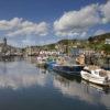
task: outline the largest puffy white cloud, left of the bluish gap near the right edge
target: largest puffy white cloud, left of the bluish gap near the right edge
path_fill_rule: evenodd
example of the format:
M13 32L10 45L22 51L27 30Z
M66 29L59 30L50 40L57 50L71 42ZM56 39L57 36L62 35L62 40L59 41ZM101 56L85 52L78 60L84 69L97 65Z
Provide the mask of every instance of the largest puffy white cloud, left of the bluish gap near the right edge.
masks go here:
M91 4L79 11L65 12L62 18L54 22L55 34L74 36L76 33L80 35L87 32L89 28L101 23L98 10L98 4Z

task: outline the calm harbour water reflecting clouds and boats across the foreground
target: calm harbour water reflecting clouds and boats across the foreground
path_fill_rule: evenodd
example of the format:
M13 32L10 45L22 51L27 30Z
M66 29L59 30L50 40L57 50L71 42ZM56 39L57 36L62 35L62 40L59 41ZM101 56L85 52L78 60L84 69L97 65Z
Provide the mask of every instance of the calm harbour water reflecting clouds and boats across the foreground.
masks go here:
M108 88L35 67L0 62L0 110L110 110Z

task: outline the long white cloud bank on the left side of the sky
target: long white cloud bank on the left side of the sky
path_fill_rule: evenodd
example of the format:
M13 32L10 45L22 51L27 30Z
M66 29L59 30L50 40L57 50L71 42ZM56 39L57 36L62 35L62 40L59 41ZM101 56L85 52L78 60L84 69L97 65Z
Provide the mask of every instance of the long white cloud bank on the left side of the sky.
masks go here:
M34 23L19 18L10 21L0 21L0 31L6 31L7 36L18 35L47 35L48 24L46 22Z

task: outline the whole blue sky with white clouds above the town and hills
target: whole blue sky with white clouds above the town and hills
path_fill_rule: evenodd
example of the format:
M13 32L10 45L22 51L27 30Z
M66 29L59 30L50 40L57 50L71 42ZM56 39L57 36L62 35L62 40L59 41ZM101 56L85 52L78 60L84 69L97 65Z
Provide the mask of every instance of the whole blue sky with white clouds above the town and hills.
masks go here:
M110 0L0 0L0 41L13 46L110 32Z

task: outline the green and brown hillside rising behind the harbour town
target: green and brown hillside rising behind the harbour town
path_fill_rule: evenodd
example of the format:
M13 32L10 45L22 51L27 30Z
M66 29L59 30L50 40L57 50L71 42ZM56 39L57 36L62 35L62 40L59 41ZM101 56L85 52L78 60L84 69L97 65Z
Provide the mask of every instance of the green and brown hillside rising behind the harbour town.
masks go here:
M90 36L88 40L61 40L53 44L42 45L42 46L33 46L41 50L55 50L56 45L61 45L61 47L64 47L64 45L68 46L78 46L81 48L92 48L96 46L100 47L105 44L106 38L110 38L110 33ZM89 42L88 42L89 41Z

